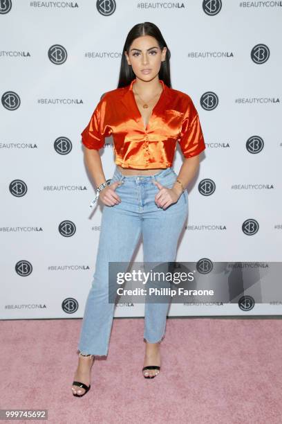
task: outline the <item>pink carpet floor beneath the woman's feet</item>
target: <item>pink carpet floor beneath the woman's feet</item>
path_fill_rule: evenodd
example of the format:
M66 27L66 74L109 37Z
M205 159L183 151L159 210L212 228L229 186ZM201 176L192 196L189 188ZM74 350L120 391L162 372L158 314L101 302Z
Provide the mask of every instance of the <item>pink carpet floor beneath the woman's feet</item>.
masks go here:
M282 423L281 319L168 319L152 380L141 373L143 319L114 319L108 358L75 398L81 322L0 321L1 409L48 409L55 424Z

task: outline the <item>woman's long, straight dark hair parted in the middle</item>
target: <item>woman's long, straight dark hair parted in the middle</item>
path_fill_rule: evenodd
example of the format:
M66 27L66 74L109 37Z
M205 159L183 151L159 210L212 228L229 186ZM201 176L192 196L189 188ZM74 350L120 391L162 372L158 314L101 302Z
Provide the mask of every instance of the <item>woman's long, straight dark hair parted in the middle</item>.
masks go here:
M118 88L126 87L129 85L132 80L135 79L135 73L133 73L132 67L127 63L124 51L129 52L129 48L133 43L135 38L142 37L142 35L151 35L151 37L156 38L160 49L162 50L167 47L167 43L164 41L164 37L162 37L162 33L160 32L158 26L152 24L151 22L142 22L142 24L136 24L129 31L125 43L124 48L122 50L122 62L120 64L120 77L118 80ZM169 67L169 59L171 53L169 48L167 47L167 53L165 55L164 62L160 65L160 71L158 73L159 79L163 80L164 84L171 88L171 78L170 78L170 67Z

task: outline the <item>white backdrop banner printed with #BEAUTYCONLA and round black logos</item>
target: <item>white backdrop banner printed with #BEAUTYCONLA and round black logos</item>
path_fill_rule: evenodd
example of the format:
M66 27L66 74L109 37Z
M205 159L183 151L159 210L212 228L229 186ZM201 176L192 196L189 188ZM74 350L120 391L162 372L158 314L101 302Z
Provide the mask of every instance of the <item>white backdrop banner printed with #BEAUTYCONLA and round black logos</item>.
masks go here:
M281 1L0 0L1 319L83 316L103 206L89 208L80 134L143 21L160 28L172 88L191 96L207 146L176 260L281 262L281 15ZM100 153L110 179L111 138ZM178 145L176 172L182 160ZM169 316L282 313L282 297L256 293L191 297ZM114 316L142 317L144 303L118 303Z

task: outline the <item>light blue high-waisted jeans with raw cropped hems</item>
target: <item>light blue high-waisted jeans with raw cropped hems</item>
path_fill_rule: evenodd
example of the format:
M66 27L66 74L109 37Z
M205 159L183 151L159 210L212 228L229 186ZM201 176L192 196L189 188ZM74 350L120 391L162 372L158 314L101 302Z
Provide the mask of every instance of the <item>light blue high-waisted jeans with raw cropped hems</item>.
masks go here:
M142 235L143 261L173 262L178 238L188 214L185 190L167 209L158 207L155 196L162 186L172 188L177 174L166 168L155 175L122 175L115 167L111 183L121 180L115 189L122 200L104 205L100 238L91 290L86 300L78 349L84 355L107 355L115 303L109 303L109 262L130 263ZM160 342L164 337L169 303L147 303L144 310L144 339Z

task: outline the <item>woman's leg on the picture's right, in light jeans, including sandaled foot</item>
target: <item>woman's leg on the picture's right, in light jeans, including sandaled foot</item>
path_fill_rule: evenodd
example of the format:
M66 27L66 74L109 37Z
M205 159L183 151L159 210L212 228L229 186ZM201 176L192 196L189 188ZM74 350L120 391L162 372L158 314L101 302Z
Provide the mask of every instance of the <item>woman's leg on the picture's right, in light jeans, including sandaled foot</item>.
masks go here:
M144 268L147 271L149 270L150 262L154 267L158 263L174 262L176 260L178 240L187 220L187 192L182 193L178 202L171 204L167 209L156 209L156 211L145 213L142 222ZM166 266L156 266L156 272L165 272L166 268ZM167 270L169 269L167 268ZM156 282L149 281L147 285L154 288L158 287ZM170 287L170 284L165 285L161 282L160 287ZM145 303L144 339L147 342L147 350L144 366L160 365L159 344L164 337L167 312L171 300L170 297L167 297L166 301L162 296L153 297L153 301L154 299L158 303L152 303L152 299L151 302L146 301ZM144 371L145 376L154 376L156 373L158 371Z

